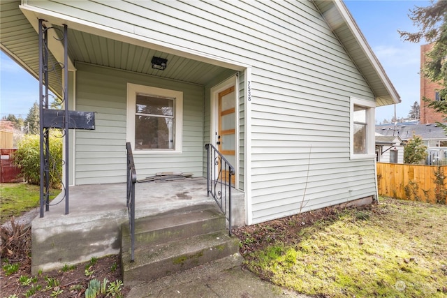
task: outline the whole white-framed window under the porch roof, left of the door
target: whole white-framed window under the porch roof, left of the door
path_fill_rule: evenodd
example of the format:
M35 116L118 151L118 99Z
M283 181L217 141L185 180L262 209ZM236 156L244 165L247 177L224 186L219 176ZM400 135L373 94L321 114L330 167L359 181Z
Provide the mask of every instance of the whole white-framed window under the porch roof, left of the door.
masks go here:
M127 84L127 141L135 154L182 151L180 91Z

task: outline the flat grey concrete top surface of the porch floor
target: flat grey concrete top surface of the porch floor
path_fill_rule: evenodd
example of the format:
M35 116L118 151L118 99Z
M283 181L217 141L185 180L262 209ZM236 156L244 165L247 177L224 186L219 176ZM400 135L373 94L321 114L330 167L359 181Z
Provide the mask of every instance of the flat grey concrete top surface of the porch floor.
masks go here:
M68 191L68 214L65 214L65 200L59 195L50 203L50 211L45 211L42 221L57 218L69 221L70 218L91 218L101 214L127 217L125 183L71 186ZM205 178L135 184L135 218L203 203L214 203L207 197Z

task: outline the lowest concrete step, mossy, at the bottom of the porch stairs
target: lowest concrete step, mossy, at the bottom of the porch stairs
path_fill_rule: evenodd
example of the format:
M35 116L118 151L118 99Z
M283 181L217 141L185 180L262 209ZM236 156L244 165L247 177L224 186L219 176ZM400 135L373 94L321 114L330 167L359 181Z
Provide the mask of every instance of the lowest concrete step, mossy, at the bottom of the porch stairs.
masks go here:
M154 246L135 248L135 261L130 252L122 252L124 283L139 285L168 276L207 262L233 255L239 250L237 237L229 237L227 230L199 234Z

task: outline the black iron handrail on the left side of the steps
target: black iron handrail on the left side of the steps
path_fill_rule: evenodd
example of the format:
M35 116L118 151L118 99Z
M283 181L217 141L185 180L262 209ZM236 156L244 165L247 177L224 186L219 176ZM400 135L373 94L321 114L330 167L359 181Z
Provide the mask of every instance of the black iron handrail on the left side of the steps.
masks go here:
M126 142L127 155L127 211L129 213L129 230L131 232L131 262L135 260L135 183L137 172L133 163L132 147L130 142Z

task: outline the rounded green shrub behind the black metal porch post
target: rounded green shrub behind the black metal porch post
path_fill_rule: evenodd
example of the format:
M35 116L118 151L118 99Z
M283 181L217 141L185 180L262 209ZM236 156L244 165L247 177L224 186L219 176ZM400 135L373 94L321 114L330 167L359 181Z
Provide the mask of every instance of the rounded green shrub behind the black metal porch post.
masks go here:
M50 131L50 187L60 188L62 178L62 133ZM20 140L14 162L29 184L40 184L41 155L39 135L26 135Z

